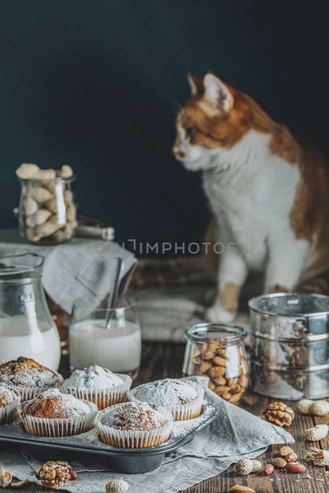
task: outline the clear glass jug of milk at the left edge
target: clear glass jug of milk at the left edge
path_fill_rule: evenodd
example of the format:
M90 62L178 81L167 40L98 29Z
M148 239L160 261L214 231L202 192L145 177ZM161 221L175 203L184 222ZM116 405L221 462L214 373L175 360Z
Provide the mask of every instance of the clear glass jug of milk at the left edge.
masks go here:
M0 363L25 356L56 371L60 338L41 284L43 261L35 253L0 257Z

